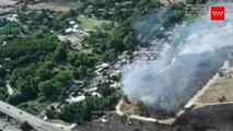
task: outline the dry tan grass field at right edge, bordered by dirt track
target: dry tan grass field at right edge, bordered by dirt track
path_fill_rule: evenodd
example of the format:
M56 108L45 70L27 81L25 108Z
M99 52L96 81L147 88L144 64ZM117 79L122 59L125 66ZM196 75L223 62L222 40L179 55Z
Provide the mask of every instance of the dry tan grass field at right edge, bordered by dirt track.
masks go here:
M223 98L224 97L224 98ZM200 103L218 103L221 99L233 102L233 78L222 76L200 96Z

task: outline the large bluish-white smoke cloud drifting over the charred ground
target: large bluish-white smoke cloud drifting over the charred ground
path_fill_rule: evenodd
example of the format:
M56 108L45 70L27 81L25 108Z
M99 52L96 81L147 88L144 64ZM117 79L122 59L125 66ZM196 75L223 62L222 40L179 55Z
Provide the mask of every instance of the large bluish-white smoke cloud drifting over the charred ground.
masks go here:
M223 48L233 46L233 5L221 5L226 8L224 22L210 21L208 9L191 24L177 26L172 40L158 41L163 45L158 59L124 67L123 91L130 100L177 111L218 72L228 58Z

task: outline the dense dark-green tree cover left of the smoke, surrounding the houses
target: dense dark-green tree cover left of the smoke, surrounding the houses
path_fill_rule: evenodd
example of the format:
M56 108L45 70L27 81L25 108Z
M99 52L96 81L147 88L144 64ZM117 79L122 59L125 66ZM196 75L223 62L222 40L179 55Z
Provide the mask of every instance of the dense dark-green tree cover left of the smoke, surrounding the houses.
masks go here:
M180 3L171 5L161 19L151 16L163 10L163 4L156 0L82 2L82 8L72 9L66 14L49 10L32 11L20 13L20 24L0 24L0 99L33 114L49 102L65 103L71 80L89 75L96 64L114 61L123 51L148 45L154 35L161 36L161 25L171 27L185 16L184 4ZM80 22L83 28L94 29L82 41L90 52L72 50L69 41L61 43L57 38L56 34L69 27L71 20ZM3 41L7 44L3 45ZM16 91L12 96L8 96L4 88L7 81ZM66 104L61 114L53 110L47 111L47 115L53 117L56 112L55 118L82 123L103 115L103 110L114 109L113 105L119 98L116 90L101 86L98 92L103 97L89 96L83 102ZM93 114L96 110L103 112Z

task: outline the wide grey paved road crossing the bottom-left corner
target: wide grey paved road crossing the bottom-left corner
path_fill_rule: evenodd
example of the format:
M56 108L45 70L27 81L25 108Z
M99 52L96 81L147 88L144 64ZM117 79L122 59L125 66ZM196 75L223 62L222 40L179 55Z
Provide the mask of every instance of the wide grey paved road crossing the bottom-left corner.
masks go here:
M2 100L0 100L0 111L15 119L27 121L30 124L36 127L36 129L39 129L40 131L65 131L63 129L56 127L54 123L44 121Z

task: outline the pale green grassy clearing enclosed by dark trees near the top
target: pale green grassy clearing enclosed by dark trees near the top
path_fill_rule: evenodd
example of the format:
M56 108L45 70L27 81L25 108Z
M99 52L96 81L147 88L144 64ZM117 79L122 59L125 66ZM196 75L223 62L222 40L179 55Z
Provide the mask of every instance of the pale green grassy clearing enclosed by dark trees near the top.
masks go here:
M85 16L79 16L78 21L81 22L81 27L86 28L86 29L95 29L96 27L101 27L104 23L109 23L108 21L104 20L95 20L91 17L85 17Z

